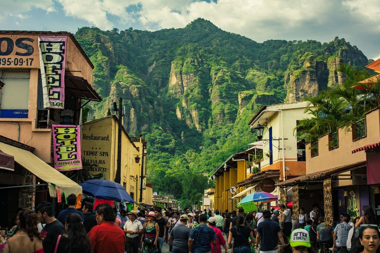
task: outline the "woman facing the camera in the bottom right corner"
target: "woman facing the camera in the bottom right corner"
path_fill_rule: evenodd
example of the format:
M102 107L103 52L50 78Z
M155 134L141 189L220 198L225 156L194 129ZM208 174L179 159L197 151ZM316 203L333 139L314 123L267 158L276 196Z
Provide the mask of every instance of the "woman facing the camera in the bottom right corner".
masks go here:
M361 225L358 239L355 240L350 252L380 253L380 232L376 225Z

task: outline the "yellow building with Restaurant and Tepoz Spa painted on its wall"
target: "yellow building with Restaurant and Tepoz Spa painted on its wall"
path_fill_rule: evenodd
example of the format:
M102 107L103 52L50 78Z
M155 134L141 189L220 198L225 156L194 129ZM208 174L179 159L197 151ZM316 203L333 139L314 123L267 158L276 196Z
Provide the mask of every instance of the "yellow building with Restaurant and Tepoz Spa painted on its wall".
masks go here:
M118 119L115 115L82 125L82 159L93 179L114 181L117 169ZM146 143L122 128L121 184L136 202L146 202ZM144 197L145 196L145 197Z

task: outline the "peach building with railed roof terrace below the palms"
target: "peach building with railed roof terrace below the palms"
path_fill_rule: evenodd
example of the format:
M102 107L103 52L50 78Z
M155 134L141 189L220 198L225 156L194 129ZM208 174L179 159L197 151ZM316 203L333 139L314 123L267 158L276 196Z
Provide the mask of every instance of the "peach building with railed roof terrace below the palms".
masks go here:
M341 213L360 217L369 205L380 218L380 109L368 112L351 129L321 136L306 144L306 175L277 184L293 187L293 208L317 202L328 223ZM285 189L285 188L283 188ZM294 191L296 189L296 191ZM295 198L294 198L295 197Z

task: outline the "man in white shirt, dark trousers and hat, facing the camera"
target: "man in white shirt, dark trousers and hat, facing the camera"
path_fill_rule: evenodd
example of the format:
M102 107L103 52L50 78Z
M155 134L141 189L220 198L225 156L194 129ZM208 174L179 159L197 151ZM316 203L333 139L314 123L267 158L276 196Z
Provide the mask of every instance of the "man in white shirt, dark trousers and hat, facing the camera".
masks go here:
M137 212L132 210L129 214L129 220L124 224L124 233L127 237L125 250L127 253L138 253L139 250L139 234L142 234L142 224L137 218Z

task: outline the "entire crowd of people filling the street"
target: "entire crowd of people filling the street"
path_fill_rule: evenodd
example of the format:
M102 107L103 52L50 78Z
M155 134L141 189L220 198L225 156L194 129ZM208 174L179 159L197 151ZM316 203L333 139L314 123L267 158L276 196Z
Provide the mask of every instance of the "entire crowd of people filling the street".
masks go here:
M351 221L341 214L334 229L325 223L317 204L306 214L301 207L293 228L291 209L280 205L245 213L228 210L190 211L189 208L120 210L109 204L84 201L76 209L76 196L54 217L45 201L17 213L3 248L5 253L160 253L164 244L171 253L316 253L380 252L380 233L374 211L363 207L363 216Z

